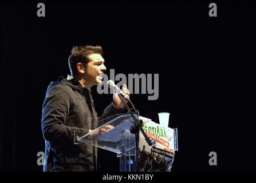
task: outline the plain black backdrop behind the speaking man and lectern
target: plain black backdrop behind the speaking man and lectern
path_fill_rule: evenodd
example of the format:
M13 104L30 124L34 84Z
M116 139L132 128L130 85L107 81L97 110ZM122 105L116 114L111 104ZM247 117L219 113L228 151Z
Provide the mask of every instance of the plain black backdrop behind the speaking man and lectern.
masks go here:
M76 45L101 45L108 75L159 74L157 100L131 100L155 122L171 113L174 172L256 170L256 3L216 3L210 17L210 2L41 2L45 17L39 1L1 2L1 171L42 171L42 102L49 83L69 74ZM96 86L92 94L103 112L112 95ZM99 161L119 170L115 153L100 150Z

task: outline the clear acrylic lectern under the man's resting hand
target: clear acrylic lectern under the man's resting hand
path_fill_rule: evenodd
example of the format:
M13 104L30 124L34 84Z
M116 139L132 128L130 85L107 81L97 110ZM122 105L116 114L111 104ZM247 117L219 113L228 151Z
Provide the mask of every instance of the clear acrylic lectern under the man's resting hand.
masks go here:
M92 137L93 132L107 125L113 126L113 129L101 136ZM76 136L76 141L117 153L117 157L120 157L120 172L136 172L136 136L130 132L132 125L134 121L131 114L117 114L93 124L93 130Z

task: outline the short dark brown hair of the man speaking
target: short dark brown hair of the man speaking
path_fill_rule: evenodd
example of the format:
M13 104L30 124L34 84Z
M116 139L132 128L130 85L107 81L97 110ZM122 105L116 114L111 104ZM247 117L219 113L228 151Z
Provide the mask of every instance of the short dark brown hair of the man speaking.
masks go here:
M81 62L84 66L90 62L88 55L90 54L103 54L103 49L101 46L74 46L72 47L71 54L69 55L69 69L71 75L77 77L77 63Z

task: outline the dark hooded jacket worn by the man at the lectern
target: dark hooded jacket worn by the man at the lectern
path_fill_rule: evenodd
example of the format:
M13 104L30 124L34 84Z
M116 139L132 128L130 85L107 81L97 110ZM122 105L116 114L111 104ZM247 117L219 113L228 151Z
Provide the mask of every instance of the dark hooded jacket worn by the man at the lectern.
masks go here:
M113 104L107 106L101 119L122 113ZM97 148L74 144L74 133L86 134L97 122L90 91L76 78L51 82L42 106L42 134L45 139L44 171L94 171Z

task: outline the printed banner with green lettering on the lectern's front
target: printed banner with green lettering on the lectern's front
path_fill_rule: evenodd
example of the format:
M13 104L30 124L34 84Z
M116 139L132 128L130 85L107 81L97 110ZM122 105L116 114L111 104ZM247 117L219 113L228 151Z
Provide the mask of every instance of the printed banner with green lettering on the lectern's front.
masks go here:
M138 172L170 172L175 153L174 129L156 124L148 118L143 120L142 129L152 142L149 146L143 134L139 135Z

